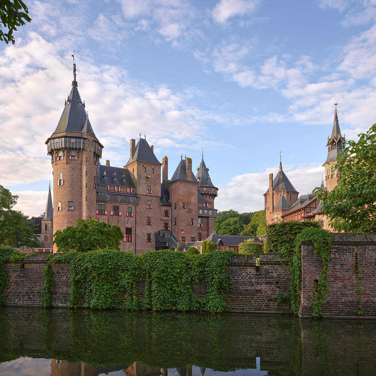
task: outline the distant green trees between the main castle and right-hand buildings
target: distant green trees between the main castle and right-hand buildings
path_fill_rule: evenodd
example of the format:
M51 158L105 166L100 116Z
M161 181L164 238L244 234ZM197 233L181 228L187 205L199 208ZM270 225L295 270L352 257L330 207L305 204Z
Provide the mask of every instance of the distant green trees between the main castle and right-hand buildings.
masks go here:
M218 235L261 236L265 234L265 210L239 213L235 210L218 212L214 220Z

